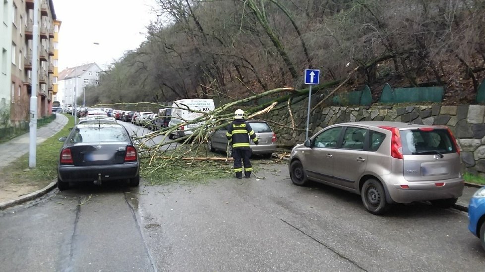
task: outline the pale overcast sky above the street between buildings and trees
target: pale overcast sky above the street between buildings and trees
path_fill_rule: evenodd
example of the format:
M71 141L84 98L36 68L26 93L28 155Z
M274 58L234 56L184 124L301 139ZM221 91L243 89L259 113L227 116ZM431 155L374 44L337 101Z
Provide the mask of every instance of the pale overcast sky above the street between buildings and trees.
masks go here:
M54 0L59 32L59 71L96 62L102 69L144 40L156 19L156 0ZM93 43L99 43L94 45Z

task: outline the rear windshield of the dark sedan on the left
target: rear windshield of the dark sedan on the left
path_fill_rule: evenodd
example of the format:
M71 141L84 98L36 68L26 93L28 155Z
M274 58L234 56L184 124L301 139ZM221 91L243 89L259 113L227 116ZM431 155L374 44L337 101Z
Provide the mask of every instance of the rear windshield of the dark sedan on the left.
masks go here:
M123 128L86 127L76 128L70 137L70 142L118 142L129 141L129 136Z

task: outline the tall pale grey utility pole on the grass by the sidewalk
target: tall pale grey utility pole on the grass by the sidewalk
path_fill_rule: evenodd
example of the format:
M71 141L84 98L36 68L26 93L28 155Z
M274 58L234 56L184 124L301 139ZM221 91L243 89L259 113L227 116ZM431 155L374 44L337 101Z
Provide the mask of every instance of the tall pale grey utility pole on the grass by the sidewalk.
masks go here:
M34 26L32 31L32 90L30 91L29 168L35 168L37 151L37 70L39 68L39 0L34 0Z

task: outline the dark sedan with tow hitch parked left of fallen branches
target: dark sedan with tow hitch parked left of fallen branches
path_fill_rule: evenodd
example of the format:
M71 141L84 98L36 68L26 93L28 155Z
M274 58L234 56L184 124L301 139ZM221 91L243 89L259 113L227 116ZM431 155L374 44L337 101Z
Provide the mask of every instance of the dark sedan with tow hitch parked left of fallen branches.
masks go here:
M58 163L60 190L69 182L128 180L129 185L140 182L138 152L120 124L80 124L67 137Z

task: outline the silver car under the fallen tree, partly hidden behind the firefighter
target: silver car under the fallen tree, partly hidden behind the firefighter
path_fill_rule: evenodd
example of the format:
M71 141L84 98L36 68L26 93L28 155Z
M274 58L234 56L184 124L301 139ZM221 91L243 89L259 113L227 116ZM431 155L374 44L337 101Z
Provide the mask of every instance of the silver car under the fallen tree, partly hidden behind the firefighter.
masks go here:
M264 157L270 158L276 150L276 134L265 121L247 121L252 130L258 138L258 145L250 142L250 148L253 154L260 154ZM226 128L215 131L209 137L207 142L210 151L221 150L226 151L228 156L232 156L233 148L228 147L228 140L226 136Z

